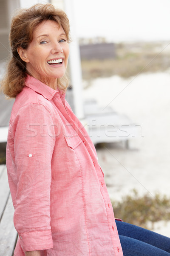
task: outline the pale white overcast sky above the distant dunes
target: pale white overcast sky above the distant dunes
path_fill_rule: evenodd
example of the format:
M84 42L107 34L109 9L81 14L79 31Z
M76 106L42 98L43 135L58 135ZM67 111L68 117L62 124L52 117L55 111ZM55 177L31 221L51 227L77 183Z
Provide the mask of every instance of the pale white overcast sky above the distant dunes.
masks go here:
M170 0L71 0L79 37L170 40Z

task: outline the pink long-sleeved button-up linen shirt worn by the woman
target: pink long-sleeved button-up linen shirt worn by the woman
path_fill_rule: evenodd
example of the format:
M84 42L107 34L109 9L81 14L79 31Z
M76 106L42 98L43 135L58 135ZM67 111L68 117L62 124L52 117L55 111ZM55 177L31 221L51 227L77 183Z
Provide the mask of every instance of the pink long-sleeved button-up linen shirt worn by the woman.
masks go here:
M12 108L6 166L19 234L14 256L123 256L87 131L61 91L31 76Z

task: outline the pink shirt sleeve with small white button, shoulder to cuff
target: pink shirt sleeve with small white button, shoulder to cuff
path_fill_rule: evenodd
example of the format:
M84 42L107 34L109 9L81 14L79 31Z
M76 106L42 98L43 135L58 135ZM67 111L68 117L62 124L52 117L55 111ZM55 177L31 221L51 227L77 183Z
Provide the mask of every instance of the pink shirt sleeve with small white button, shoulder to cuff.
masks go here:
M14 226L24 251L53 247L50 187L54 135L51 113L38 103L20 109L11 125L17 172Z

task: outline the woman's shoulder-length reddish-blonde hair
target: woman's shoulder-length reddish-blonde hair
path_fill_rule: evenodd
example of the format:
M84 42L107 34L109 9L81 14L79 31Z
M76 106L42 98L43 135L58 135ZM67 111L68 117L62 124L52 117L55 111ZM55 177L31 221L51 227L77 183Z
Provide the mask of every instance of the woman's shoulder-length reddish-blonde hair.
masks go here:
M11 21L9 41L12 57L8 63L6 75L1 83L1 90L9 98L15 98L23 90L25 79L28 74L26 62L20 58L17 52L18 47L27 49L32 41L33 31L43 20L54 20L65 31L68 42L70 41L69 20L65 12L55 9L51 4L35 4L29 9L21 9ZM66 90L68 87L67 76L57 79L59 90Z

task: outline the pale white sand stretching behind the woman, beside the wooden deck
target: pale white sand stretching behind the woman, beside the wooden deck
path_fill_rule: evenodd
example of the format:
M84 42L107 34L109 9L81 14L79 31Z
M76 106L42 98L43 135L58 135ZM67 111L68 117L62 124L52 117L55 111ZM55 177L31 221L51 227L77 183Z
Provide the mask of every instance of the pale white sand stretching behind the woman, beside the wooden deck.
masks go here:
M170 73L95 79L83 94L103 108L109 104L140 128L129 136L129 149L120 143L97 149L111 199L119 201L132 189L170 196ZM169 224L159 226L155 230L170 237Z

